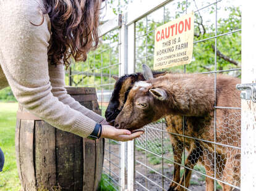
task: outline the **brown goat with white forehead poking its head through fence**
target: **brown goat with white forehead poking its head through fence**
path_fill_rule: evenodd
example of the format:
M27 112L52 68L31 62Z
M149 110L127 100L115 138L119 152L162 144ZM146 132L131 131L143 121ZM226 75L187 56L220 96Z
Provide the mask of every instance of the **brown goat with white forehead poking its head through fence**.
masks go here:
M240 107L239 92L234 89L235 84L240 83L239 79L217 75L216 83L216 105ZM214 169L223 190L233 189L223 182L236 186L240 184L240 150L234 148L241 145L240 113L233 109L216 109L215 113L214 92L212 76L166 74L150 79L147 83L135 83L115 120L117 128L133 130L165 116L175 162L174 179L169 190L184 190L181 185L189 187L189 169L193 169L198 162L206 169L207 191L213 190L211 177L215 174ZM187 168L180 179L180 166L177 164L181 164L184 137L174 134L183 134L182 115L186 116L185 135L198 139L185 138L184 145L189 155L185 162ZM216 148L213 137L216 137Z

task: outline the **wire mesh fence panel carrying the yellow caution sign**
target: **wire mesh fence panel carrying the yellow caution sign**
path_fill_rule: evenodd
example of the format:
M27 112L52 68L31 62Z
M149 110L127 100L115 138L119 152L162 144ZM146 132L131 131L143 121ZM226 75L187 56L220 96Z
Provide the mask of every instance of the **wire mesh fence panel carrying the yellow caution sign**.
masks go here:
M213 75L215 95L218 74L241 78L241 5L238 1L233 1L232 6L229 3L169 1L135 22L135 71L142 71L143 63L153 68L155 28L194 11L192 63L168 68L168 71ZM183 116L166 116L158 123L145 126L145 134L135 141L135 189L168 190L172 184L177 190L205 190L206 182L214 180L213 190L221 190L221 185L240 190L240 109L233 105L215 105L214 124L203 132L204 136L189 129ZM228 112L220 116L220 110ZM189 145L193 144L200 147L190 155ZM192 166L188 158L196 165ZM178 176L185 181L173 179L177 169ZM186 179L189 171L192 171L191 179ZM186 181L190 181L189 188Z

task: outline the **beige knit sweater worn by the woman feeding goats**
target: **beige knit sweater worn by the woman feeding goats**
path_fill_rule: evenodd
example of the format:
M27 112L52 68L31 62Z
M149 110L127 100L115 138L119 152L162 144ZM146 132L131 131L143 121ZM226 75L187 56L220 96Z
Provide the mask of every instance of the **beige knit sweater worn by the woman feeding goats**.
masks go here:
M67 94L64 65L48 63L51 23L42 0L0 0L0 89L11 86L18 102L56 128L82 137L104 120ZM1 108L0 108L1 109Z

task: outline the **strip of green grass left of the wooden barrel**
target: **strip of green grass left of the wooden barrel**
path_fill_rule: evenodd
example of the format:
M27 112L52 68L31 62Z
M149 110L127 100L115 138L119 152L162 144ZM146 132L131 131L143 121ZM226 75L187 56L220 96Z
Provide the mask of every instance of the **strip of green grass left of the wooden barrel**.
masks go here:
M17 103L0 102L0 147L4 152L6 163L0 173L0 190L20 190L20 181L15 159L15 124Z

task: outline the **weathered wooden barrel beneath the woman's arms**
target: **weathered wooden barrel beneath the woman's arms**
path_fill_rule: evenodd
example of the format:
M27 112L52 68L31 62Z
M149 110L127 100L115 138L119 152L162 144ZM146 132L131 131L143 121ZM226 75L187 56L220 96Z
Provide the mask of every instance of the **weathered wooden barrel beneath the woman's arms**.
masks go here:
M95 88L67 87L83 106L100 114ZM83 139L54 128L19 107L15 132L17 168L23 190L97 190L104 139Z

